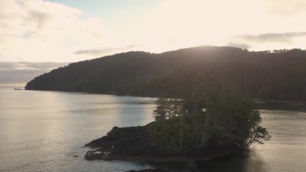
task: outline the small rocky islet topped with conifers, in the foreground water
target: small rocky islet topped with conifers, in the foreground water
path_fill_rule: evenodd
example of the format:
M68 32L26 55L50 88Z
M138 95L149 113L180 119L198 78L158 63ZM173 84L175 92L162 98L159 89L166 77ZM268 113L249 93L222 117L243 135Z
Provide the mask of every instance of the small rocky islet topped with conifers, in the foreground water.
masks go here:
M270 140L260 125L254 100L230 85L225 78L199 80L181 98L161 96L152 113L154 122L113 127L106 136L85 144L92 148L85 159L192 162L197 166Z

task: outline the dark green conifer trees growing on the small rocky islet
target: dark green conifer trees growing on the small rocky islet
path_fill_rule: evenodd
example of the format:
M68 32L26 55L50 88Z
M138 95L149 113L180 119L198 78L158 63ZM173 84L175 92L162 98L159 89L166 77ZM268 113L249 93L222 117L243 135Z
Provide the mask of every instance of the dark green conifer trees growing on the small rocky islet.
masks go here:
M270 140L267 130L260 126L260 112L254 100L242 97L234 89L235 84L224 79L221 85L196 85L193 93L182 99L158 99L152 135L160 146L188 150L205 146L206 140L245 146Z

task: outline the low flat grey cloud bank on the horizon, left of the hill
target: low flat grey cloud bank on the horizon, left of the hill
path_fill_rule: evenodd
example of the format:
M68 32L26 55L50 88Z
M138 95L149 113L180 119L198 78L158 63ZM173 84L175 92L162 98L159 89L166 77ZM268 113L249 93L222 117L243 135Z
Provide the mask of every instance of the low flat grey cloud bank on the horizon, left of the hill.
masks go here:
M0 86L24 86L34 77L68 63L0 62Z

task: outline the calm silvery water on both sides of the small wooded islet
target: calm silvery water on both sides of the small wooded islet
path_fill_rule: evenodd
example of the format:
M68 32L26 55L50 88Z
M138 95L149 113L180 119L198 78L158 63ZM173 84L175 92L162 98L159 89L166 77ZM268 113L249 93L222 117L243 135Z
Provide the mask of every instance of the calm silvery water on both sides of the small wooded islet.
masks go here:
M87 161L83 145L113 126L152 121L154 98L0 88L0 171L126 171L155 167ZM201 171L306 171L306 113L262 110L272 140ZM79 155L78 157L72 157Z

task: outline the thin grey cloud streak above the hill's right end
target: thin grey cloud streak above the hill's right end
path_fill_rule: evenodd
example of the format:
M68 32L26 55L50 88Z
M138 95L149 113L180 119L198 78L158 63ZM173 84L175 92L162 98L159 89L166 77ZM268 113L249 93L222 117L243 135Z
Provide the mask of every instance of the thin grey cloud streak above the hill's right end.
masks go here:
M240 35L238 37L247 42L291 43L294 38L302 36L306 36L306 32L266 33L261 35Z

